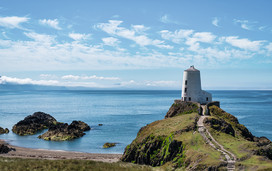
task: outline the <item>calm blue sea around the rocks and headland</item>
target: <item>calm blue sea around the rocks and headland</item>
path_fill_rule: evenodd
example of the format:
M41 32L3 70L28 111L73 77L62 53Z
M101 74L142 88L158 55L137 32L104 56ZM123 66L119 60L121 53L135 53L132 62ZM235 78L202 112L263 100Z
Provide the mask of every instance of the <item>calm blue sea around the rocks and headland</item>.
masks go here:
M208 92L253 135L272 140L272 91ZM0 139L35 149L121 154L141 127L163 119L174 100L180 98L178 90L0 91L0 126L10 130L9 134L0 135ZM48 113L59 122L84 121L91 130L81 138L63 142L38 139L46 130L29 136L18 136L11 131L14 124L37 111ZM106 142L117 145L103 149Z

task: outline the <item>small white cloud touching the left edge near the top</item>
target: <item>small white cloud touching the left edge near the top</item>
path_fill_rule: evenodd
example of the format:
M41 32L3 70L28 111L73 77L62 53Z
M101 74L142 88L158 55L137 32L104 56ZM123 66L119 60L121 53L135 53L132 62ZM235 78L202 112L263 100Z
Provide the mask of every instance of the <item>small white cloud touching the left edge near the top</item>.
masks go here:
M28 20L29 20L29 18L27 18L27 17L17 17L17 16L0 17L0 26L11 28L11 29L14 29L14 28L22 29L20 24L25 23Z

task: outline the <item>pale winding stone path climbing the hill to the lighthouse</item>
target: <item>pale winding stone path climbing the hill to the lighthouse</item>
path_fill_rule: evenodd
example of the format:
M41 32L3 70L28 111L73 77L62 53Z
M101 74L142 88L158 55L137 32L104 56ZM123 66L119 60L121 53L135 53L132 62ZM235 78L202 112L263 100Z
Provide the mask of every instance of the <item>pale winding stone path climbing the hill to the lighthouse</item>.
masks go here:
M203 110L204 113L204 110ZM227 170L228 171L234 171L235 170L235 162L236 162L236 156L229 152L228 150L226 150L221 144L219 144L214 138L213 136L210 134L210 132L208 131L208 129L206 129L206 127L204 126L204 119L206 117L209 116L204 116L202 115L198 122L197 122L197 126L198 126L198 132L201 134L201 136L204 138L204 140L206 141L206 143L208 143L210 146L212 146L215 150L221 152L226 160L227 160Z

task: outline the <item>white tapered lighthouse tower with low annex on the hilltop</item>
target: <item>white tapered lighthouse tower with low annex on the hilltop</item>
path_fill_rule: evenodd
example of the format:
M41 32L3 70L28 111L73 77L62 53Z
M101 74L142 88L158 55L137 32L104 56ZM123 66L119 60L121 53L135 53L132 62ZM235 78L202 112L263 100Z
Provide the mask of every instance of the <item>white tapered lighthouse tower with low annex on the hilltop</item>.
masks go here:
M191 66L183 73L182 101L207 104L212 101L212 95L201 89L200 71Z

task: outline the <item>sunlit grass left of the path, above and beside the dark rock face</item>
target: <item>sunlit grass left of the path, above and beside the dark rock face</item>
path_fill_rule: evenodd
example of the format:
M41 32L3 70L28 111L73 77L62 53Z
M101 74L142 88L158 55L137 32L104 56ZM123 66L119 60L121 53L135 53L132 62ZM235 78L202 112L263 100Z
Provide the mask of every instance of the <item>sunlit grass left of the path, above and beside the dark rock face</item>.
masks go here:
M196 117L199 117L197 113L191 113L155 121L142 129L136 138L136 142L142 142L149 135L171 136L175 140L182 141L183 144L183 157L177 159L177 162L182 166L181 170L185 167L193 167L195 163L203 167L219 166L222 163L220 161L221 153L206 144L197 130L192 129L188 132L176 133L188 127L194 128ZM168 162L164 165L169 166L171 164Z

